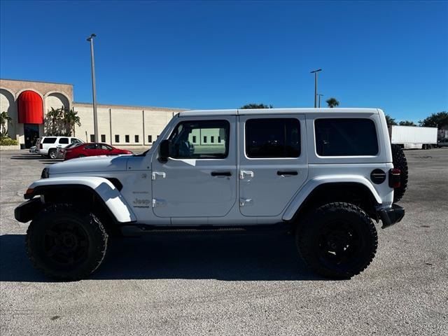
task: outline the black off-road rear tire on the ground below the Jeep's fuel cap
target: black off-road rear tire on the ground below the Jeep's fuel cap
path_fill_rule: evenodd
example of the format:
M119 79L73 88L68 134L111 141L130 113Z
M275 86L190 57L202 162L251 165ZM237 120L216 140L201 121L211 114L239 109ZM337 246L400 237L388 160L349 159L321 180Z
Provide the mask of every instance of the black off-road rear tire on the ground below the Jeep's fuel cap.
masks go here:
M351 244L345 251L347 259L337 261L337 255L327 250L328 228L347 229ZM331 231L330 231L331 232ZM333 234L334 235L334 234ZM324 242L325 241L325 242ZM350 279L370 265L377 252L378 236L374 223L365 212L349 203L328 203L309 212L295 231L297 250L314 272L330 279ZM340 251L340 250L339 250Z

